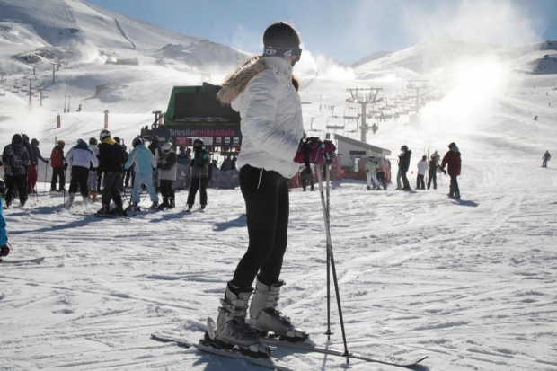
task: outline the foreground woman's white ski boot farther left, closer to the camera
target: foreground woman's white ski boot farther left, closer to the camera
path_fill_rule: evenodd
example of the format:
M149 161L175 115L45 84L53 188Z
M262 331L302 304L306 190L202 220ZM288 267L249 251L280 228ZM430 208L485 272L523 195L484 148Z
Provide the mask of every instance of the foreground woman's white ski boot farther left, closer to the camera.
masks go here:
M237 346L254 357L270 357L270 348L260 343L257 332L245 322L252 293L253 287L235 289L228 282L225 297L220 299L222 306L218 307L217 323L212 318L207 320L208 336L219 346Z

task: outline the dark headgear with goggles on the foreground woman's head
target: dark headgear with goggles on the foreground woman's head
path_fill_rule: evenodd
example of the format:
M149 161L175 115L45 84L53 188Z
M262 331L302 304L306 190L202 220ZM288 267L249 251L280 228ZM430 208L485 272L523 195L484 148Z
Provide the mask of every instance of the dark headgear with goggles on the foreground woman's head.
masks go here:
M264 57L296 57L292 66L300 60L300 35L296 29L285 22L275 22L263 33Z

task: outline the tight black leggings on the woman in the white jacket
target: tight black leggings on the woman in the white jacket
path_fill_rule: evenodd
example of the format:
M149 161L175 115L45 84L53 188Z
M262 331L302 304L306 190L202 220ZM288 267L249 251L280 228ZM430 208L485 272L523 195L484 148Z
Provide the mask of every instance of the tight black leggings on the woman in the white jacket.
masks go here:
M287 250L290 208L287 179L279 172L261 172L259 168L245 165L240 169L240 190L245 200L250 244L232 283L237 287L251 287L259 272L261 283L272 285L279 281Z

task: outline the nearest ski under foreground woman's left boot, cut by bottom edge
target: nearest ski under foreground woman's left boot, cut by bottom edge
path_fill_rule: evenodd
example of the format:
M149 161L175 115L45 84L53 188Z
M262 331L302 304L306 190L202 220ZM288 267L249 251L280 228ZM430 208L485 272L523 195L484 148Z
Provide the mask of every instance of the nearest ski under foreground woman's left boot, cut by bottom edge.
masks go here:
M182 348L194 347L194 348L197 348L201 351L211 353L211 354L215 354L217 356L221 356L221 357L225 357L225 358L243 359L247 362L250 362L252 365L267 367L267 368L270 368L271 370L293 371L292 368L288 368L288 367L280 365L279 360L277 360L276 358L253 358L251 356L243 354L242 351L240 349L237 349L237 348L217 349L217 348L214 348L214 347L210 346L209 344L211 344L211 342L208 341L208 340L205 340L205 339L199 340L199 342L196 343L196 342L192 342L190 340L175 339L173 337L170 337L170 336L167 336L167 335L164 335L164 334L156 334L156 333L151 334L151 339L157 340L157 341L162 341L162 342L172 342L172 343L174 343L177 346L182 347Z

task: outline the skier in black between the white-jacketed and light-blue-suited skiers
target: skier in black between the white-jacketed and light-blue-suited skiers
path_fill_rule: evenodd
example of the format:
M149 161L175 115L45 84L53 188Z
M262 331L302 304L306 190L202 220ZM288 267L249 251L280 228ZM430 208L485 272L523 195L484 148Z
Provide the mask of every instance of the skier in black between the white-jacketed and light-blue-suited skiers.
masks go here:
M97 214L111 213L111 200L114 200L116 208L113 213L117 215L126 215L122 205L122 198L119 194L119 184L122 177L124 166L124 155L122 148L111 137L111 132L107 129L101 131L101 144L99 145L99 167L98 173L104 172L102 189L102 208Z

